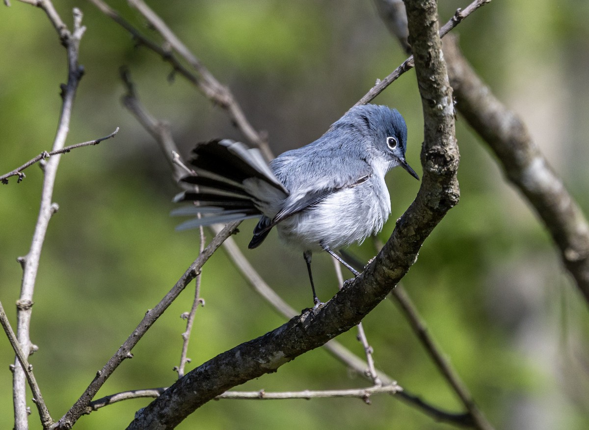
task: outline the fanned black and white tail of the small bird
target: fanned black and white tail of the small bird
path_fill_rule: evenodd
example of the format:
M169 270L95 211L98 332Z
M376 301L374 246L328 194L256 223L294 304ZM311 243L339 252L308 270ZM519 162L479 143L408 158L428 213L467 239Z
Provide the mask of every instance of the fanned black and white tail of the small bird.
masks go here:
M276 202L289 194L260 150L241 142L223 139L199 143L192 155L189 163L196 174L181 180L198 189L181 192L174 202L191 201L194 205L175 209L172 215L201 216L180 224L177 229L272 216Z

